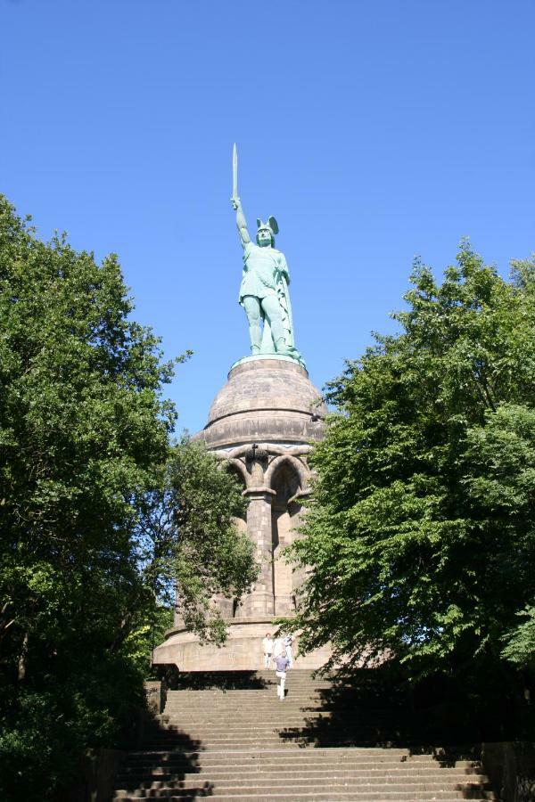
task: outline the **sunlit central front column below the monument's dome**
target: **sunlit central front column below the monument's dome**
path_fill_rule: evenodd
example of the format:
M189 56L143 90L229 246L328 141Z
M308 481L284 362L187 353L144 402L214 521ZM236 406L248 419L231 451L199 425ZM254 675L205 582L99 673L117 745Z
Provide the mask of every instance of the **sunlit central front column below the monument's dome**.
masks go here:
M272 616L275 612L273 589L273 544L271 537L271 500L275 494L269 487L249 487L243 491L249 500L247 532L257 548L260 573L252 592L243 600L243 613L248 617Z

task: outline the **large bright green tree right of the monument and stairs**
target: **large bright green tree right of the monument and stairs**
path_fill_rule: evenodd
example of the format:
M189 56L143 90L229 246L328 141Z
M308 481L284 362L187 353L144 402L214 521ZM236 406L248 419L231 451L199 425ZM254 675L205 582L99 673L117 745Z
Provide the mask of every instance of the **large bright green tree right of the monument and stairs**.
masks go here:
M506 282L464 243L411 280L399 334L328 386L297 626L413 678L507 674L535 645L535 262Z

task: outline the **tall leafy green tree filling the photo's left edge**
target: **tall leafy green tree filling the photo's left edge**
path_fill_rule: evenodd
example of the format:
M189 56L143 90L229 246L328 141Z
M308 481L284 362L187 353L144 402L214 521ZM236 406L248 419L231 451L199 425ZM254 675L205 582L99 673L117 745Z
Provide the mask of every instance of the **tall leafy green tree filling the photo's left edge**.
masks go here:
M170 445L176 413L162 388L172 364L132 308L117 258L97 265L64 237L40 241L0 196L6 800L53 796L75 776L83 750L117 743L143 704L142 653L169 613L158 593L158 570L168 567L141 542L140 520L169 478L175 559L191 557L210 587L227 593L235 569L252 570L239 538L233 552L229 478L209 454ZM204 520L191 500L195 460L207 471Z

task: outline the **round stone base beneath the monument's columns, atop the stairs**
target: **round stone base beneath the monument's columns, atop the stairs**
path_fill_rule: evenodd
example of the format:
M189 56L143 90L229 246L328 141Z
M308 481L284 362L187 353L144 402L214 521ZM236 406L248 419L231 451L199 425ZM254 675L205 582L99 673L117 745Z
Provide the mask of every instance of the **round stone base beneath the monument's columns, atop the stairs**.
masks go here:
M199 638L185 629L171 630L163 643L152 653L152 662L174 663L179 671L259 671L264 667L262 639L274 634L273 618L233 618L229 623L225 646L209 643L202 646ZM331 657L328 647L299 654L299 636L293 642L293 667L314 671ZM273 667L273 666L272 666Z

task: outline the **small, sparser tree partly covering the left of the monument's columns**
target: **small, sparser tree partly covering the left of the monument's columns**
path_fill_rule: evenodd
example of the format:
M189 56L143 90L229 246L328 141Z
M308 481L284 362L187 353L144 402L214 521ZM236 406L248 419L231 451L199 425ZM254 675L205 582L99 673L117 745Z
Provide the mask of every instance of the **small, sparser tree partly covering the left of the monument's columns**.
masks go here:
M159 486L145 494L137 535L145 585L175 601L185 626L221 645L226 624L217 595L240 597L258 566L250 537L235 528L242 488L202 443L182 438L170 451Z

